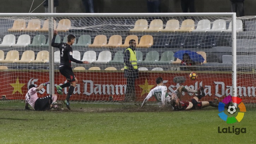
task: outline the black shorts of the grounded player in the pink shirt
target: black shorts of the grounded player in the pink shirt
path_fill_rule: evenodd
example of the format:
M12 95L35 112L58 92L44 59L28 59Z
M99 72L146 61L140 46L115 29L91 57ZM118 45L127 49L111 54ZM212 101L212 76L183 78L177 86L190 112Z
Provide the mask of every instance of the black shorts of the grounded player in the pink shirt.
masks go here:
M36 111L44 111L44 110L49 110L50 105L52 104L52 94L46 97L38 98L35 103L34 109Z

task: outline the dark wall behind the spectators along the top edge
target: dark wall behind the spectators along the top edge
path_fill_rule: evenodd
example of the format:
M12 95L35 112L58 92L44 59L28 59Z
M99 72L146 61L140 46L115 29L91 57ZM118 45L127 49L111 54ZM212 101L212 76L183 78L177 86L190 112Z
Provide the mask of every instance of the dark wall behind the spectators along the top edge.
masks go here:
M43 0L5 0L0 5L0 13L43 13L44 7L40 5ZM84 7L81 0L60 0L57 7L58 13L83 13ZM33 2L33 5L32 5ZM13 4L16 4L13 8ZM32 5L32 7L31 7ZM40 5L38 8L36 8ZM245 15L256 15L255 0L245 1ZM31 7L31 10L30 10ZM145 13L147 12L146 0L94 0L96 13ZM231 12L230 0L195 0L196 12ZM181 12L180 0L161 0L161 12Z

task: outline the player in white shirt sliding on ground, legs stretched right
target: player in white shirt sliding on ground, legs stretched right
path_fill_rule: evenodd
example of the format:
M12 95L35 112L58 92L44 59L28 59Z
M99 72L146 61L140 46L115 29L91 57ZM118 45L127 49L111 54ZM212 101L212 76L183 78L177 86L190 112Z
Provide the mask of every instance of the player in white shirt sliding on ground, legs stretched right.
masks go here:
M144 99L141 107L143 107L148 102L149 98L151 98L152 96L155 97L160 107L164 107L171 102L171 99L180 99L181 93L183 91L197 94L201 94L203 92L202 87L199 87L198 90L192 90L187 86L179 86L178 89L172 93L172 97L170 97L167 93L167 87L163 86L163 79L161 77L156 78L156 84L157 86L149 92L148 96Z

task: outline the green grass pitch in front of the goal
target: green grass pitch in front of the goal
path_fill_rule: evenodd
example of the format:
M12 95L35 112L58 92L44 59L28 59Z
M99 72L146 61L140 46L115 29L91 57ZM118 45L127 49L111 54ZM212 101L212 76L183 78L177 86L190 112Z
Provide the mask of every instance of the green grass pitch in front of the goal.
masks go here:
M34 111L24 110L24 103L0 104L0 143L256 143L255 108L247 108L240 123L226 124L219 118L218 109L212 107L190 111L159 110L156 105L138 107L71 103L72 111ZM228 127L231 133L219 133ZM246 128L246 133L232 132L238 128Z

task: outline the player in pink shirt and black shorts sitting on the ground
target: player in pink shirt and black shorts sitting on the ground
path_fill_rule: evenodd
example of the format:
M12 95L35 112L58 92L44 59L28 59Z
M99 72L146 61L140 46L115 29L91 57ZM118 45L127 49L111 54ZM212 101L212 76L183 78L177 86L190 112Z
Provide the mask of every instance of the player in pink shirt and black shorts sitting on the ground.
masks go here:
M35 85L29 85L29 91L25 96L25 109L29 110L28 105L33 107L36 111L50 110L51 108L58 109L57 95L50 94L49 96L38 98L37 92L40 91L44 86L50 84L46 82L36 87Z

